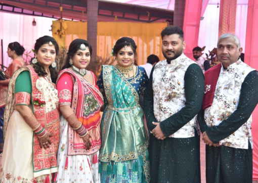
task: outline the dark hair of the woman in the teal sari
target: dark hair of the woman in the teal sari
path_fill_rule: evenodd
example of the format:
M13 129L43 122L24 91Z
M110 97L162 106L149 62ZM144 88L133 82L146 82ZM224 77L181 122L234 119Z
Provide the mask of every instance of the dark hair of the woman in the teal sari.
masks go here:
M131 37L121 37L120 39L118 39L114 45L114 54L117 55L119 50L121 50L125 45L132 48L135 54L135 59L137 59L137 45L135 44L134 39L132 39Z

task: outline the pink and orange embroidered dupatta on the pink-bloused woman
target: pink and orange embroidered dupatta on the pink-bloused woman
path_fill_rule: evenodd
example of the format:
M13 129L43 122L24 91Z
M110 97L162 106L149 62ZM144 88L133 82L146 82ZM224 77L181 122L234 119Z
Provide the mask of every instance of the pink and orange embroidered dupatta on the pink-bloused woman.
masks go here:
M73 80L72 103L71 109L82 123L87 128L92 136L91 149L86 150L82 139L77 132L69 125L68 126L68 155L91 155L96 153L101 146L100 135L100 108L103 105L103 96L99 88L86 81L80 75L72 72L69 69L64 69L60 72L58 79L62 74L68 73ZM96 80L95 80L96 82Z

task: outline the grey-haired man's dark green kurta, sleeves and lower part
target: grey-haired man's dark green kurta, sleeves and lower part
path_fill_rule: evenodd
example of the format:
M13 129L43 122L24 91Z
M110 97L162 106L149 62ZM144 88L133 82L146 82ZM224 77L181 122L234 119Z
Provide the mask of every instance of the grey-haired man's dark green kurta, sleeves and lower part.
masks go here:
M206 131L213 143L227 138L242 126L250 117L258 103L258 74L251 71L241 85L241 94L237 110L218 126L208 127L204 120L204 111L198 114L201 132ZM252 149L237 149L226 146L206 146L206 182L207 183L244 183L252 182Z

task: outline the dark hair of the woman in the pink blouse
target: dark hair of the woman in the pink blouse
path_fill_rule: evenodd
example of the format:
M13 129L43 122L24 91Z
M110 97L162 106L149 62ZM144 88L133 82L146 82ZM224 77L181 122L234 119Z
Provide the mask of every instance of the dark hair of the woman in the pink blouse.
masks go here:
M85 39L74 39L69 45L69 50L67 52L66 62L65 62L65 65L62 67L62 70L71 67L71 65L69 63L70 57L72 58L74 56L74 54L80 49L81 44L84 44L86 47L89 48L90 55L92 56L92 47L87 40L85 40Z

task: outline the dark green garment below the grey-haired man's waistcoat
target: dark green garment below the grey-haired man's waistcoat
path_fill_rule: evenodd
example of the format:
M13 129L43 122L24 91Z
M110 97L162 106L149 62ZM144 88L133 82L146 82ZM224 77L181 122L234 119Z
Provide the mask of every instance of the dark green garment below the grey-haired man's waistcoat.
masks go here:
M251 183L252 149L206 146L207 183Z

